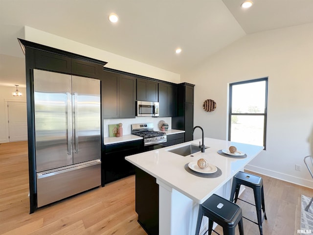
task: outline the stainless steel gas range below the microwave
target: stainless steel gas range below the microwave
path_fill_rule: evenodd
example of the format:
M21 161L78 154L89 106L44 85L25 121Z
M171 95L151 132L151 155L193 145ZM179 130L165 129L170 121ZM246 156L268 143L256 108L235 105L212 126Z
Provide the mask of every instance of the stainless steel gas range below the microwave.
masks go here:
M132 124L132 134L143 138L144 146L159 144L167 141L166 133L154 131L153 123Z

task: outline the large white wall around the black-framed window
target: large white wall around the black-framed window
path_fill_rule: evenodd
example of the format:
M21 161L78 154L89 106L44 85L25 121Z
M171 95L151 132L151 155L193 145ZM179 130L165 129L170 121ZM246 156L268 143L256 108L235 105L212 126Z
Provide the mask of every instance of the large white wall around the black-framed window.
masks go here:
M181 81L196 85L194 124L206 137L226 140L228 84L267 76L267 149L246 168L313 188L303 163L313 125L313 24L246 35ZM202 109L205 99L216 101L214 112Z

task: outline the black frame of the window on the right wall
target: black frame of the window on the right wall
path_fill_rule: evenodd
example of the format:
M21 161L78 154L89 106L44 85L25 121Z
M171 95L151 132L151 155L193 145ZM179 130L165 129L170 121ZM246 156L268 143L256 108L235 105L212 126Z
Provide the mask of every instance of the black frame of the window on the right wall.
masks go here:
M233 86L247 84L247 83L254 83L254 82L261 82L265 81L265 107L264 113L232 113L232 90ZM267 116L268 116L268 77L251 79L247 81L241 82L233 82L229 83L229 107L228 107L228 141L231 141L231 116L263 116L264 117L264 127L263 127L263 146L264 150L266 149L266 128L267 128Z

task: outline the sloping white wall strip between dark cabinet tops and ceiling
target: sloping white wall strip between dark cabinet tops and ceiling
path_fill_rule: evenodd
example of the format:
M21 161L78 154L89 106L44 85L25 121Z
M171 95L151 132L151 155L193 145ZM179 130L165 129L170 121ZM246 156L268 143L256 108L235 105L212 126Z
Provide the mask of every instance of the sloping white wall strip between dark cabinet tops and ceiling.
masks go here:
M174 72L162 70L151 65L125 58L95 47L90 47L85 44L31 28L29 26L24 26L24 31L24 39L27 41L108 62L105 66L107 68L131 72L173 83L179 83L180 81L180 75Z

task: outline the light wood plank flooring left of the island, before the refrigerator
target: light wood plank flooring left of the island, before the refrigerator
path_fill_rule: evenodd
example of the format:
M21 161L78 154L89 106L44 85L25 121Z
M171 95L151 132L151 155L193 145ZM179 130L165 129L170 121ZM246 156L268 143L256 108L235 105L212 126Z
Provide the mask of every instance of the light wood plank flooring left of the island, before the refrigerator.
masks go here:
M134 209L134 176L29 214L27 142L0 144L1 235L146 235Z

